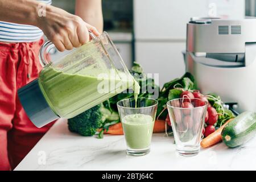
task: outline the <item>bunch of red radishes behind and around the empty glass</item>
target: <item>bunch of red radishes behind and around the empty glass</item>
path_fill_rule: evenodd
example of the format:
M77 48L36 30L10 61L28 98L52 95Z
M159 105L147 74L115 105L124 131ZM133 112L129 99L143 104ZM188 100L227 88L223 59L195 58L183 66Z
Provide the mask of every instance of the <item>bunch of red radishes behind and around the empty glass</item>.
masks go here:
M193 92L189 92L188 90L183 91L180 94L180 98L184 98L182 107L184 108L193 108L200 107L205 105L205 101L207 100L207 97L205 97L203 94L199 92L199 90L195 90ZM200 100L195 100L194 106L191 104L194 98L199 98ZM189 110L186 110L189 112ZM189 113L184 113L189 114ZM212 107L210 104L208 104L207 107L207 113L205 114L205 127L203 128L203 134L204 137L207 137L209 134L213 133L215 131L214 124L218 120L218 113L214 107ZM167 114L166 122L169 126L171 126L171 121L169 114Z

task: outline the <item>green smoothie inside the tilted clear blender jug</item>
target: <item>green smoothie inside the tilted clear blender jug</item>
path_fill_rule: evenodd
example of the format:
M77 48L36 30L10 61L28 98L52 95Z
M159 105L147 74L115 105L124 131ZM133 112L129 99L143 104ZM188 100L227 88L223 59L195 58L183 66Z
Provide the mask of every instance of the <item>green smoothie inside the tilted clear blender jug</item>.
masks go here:
M109 83L109 85L123 85L125 88L114 86L113 90L102 93L98 90L98 85L102 82ZM132 78L124 80L69 74L51 67L40 73L39 83L42 85L42 91L48 104L55 108L55 112L62 118L72 118L97 105L99 99L107 100L115 96L118 89L123 91L129 88L129 85L135 85ZM138 86L134 86L134 88L137 89Z

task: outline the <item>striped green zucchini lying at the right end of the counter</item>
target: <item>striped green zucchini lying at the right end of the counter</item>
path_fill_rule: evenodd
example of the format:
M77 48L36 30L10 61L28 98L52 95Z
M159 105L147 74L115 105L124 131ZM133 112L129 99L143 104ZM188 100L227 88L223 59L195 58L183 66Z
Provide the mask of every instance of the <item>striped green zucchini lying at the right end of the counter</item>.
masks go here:
M224 127L221 132L222 141L228 147L238 147L255 136L256 113L245 111Z

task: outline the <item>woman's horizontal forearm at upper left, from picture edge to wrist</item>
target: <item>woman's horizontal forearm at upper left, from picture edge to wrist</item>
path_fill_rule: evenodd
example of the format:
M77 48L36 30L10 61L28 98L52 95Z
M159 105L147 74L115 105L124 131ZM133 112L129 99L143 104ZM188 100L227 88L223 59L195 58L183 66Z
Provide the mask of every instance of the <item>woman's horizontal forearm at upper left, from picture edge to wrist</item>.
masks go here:
M35 0L0 0L0 20L37 26L38 7Z

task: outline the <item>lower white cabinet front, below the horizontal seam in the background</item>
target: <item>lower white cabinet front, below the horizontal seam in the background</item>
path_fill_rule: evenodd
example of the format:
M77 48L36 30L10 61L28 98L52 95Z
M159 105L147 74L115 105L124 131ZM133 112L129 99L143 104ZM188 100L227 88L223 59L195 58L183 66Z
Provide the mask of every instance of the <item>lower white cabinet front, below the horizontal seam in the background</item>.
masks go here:
M184 42L136 42L135 60L142 65L146 73L159 73L159 85L181 77L185 73L182 50ZM157 80L155 80L157 81Z

